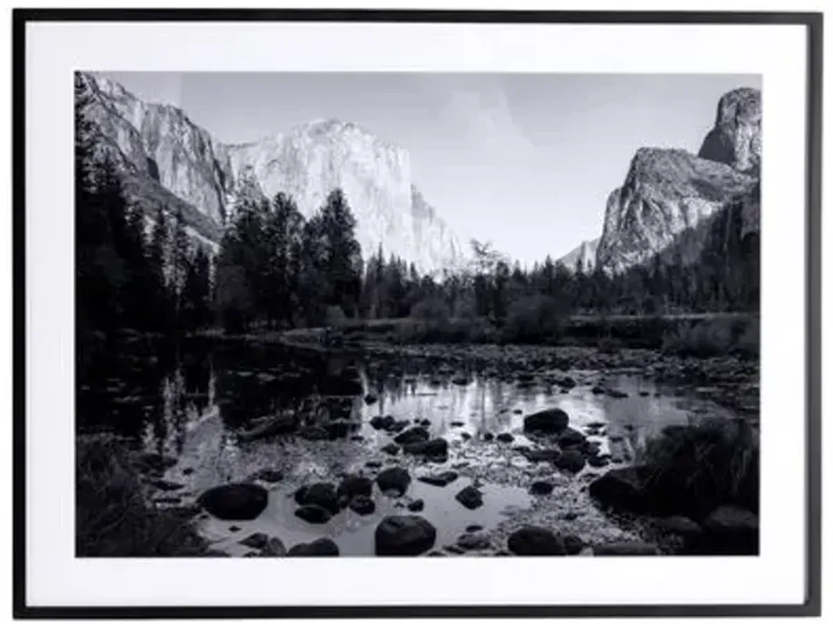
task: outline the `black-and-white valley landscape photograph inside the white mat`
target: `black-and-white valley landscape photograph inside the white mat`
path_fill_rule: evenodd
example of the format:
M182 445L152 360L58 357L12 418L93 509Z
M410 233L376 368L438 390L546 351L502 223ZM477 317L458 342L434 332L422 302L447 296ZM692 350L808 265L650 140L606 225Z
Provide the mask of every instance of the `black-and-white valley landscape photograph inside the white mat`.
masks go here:
M78 557L757 554L760 77L74 87Z

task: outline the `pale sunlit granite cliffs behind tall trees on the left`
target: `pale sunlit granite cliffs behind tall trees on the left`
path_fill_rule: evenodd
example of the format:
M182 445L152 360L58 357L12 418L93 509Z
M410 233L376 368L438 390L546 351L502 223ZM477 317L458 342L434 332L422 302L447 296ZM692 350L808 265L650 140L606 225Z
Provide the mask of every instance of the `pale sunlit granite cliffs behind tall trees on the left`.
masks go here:
M382 246L423 272L456 267L466 248L412 179L407 150L350 122L316 121L258 142L227 144L182 109L144 102L112 79L83 73L78 105L97 147L120 165L145 207L180 207L195 236L217 242L242 195L287 192L310 217L341 187L365 257Z

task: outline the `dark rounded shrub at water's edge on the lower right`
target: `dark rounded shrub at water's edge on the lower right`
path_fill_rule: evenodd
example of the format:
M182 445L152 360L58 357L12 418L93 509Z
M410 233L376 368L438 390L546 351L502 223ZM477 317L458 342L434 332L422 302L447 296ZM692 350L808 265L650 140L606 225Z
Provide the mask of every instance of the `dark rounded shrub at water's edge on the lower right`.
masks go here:
M651 508L700 519L720 505L758 511L760 436L743 418L666 427L642 453Z

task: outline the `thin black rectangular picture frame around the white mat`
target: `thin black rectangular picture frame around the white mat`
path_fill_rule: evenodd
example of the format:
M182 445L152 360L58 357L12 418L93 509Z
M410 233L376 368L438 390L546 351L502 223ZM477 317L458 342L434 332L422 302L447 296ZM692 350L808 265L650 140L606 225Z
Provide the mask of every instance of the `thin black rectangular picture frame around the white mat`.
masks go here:
M720 605L390 607L32 607L26 600L26 27L31 22L445 22L793 24L807 30L806 92L806 593L804 602ZM25 619L262 617L796 617L821 614L821 105L819 12L585 12L248 9L16 9L13 127L13 616Z

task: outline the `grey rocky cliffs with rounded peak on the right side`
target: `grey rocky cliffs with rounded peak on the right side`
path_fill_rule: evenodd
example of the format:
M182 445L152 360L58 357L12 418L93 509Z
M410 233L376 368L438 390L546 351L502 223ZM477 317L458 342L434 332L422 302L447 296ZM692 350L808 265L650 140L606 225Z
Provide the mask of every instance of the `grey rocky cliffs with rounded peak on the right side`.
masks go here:
M657 255L698 262L704 249L714 248L707 240L710 224L725 220L728 208L740 240L758 232L760 167L761 92L736 89L718 102L715 126L698 155L636 151L625 182L608 197L596 262L613 271Z

